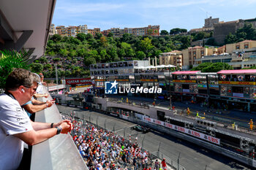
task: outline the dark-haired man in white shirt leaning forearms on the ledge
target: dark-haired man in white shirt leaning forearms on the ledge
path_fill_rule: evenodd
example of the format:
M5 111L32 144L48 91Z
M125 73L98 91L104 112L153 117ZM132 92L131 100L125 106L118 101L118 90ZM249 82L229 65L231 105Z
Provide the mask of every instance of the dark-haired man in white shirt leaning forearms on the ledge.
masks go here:
M20 107L31 99L37 89L32 74L26 69L14 69L7 77L5 93L0 95L0 169L18 169L24 142L34 145L72 130L69 120L32 122Z

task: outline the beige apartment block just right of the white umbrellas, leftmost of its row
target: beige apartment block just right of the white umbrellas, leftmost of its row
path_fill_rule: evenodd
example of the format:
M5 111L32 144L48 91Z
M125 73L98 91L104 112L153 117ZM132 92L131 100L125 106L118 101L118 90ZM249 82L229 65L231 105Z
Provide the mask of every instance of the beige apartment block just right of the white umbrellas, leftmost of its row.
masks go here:
M181 68L183 66L183 57L181 51L173 50L168 53L160 53L159 55L160 65L173 65Z

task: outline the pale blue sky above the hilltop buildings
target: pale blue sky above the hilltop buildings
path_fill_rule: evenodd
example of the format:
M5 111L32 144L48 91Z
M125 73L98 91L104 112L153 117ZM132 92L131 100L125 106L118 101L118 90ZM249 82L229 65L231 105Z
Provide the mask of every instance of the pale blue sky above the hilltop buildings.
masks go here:
M206 16L225 22L256 18L256 0L57 0L56 26L88 28L138 28L160 25L171 28L201 28Z

